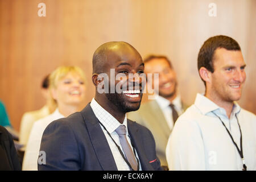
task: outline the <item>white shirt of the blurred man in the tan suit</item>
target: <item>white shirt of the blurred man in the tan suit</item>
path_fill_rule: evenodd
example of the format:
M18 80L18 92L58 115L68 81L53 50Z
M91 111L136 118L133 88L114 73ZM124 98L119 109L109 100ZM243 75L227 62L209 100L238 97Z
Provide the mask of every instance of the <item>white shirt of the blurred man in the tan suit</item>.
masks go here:
M166 119L167 124L170 127L170 130L172 130L172 128L174 127L174 121L172 119L172 109L170 107L171 102L161 96L156 97L155 101L158 102L158 105L160 106L160 109L162 109L162 111L163 111L164 118ZM174 105L174 108L177 111L177 114L181 115L183 113L183 108L182 108L182 104L181 104L180 95L178 95L172 101L172 104Z

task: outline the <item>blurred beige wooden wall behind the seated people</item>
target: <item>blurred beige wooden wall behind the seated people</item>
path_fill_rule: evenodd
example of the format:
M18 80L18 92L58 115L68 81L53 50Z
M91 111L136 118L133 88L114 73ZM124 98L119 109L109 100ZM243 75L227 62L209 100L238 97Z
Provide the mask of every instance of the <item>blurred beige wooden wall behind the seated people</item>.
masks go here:
M38 16L40 2L46 17ZM216 17L208 15L212 2ZM240 43L247 81L239 103L256 113L255 18L255 0L0 0L0 99L19 130L22 114L44 105L43 77L59 65L79 65L88 77L89 102L94 50L122 40L143 57L170 57L181 96L192 104L204 92L197 53L207 38L222 34Z

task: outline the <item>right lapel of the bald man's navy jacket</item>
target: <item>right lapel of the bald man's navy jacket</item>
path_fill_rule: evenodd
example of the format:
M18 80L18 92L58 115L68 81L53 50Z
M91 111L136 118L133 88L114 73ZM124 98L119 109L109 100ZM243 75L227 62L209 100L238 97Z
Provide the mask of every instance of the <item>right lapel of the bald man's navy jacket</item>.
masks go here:
M138 156L139 162L141 163L141 167L143 171L152 171L154 168L149 163L149 160L146 157L145 150L142 148L143 144L141 143L141 139L139 139L139 129L134 126L134 123L127 119L127 127L129 131L129 135L131 137L131 143L135 147Z

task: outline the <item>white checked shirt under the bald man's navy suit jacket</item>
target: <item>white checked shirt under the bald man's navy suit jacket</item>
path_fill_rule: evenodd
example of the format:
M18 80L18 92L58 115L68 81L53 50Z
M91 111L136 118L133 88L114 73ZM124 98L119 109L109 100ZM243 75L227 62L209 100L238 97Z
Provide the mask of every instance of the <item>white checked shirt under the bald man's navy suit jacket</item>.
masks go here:
M92 102L90 102L90 106L92 107L93 113L96 115L98 120L102 123L102 125L105 126L106 130L108 130L111 137L115 140L115 142L118 144L118 146L121 148L121 150L123 152L121 143L119 141L119 136L115 132L115 129L117 129L122 124L119 123L117 121L117 119L115 119L111 114L109 114L108 111L106 111L103 107L101 107L100 104L98 104L98 102L96 100L94 100L94 98L92 99ZM128 142L130 143L130 146L133 150L133 146L131 145L130 137L128 137L129 133L128 133L126 115L125 115L125 119L123 120L123 125L125 125L125 127L126 127L126 138L127 138ZM104 127L101 126L101 129L104 132L105 137L109 143L109 147L110 147L110 150L112 151L118 171L130 171L129 166L126 164L125 160L123 160L122 155L120 154L117 146L115 146L115 143L113 142L113 140L109 137L109 134L106 132ZM137 158L139 159L136 150L135 150L135 153L136 153ZM123 152L123 154L125 154L125 153ZM141 170L141 163L139 163L139 169Z

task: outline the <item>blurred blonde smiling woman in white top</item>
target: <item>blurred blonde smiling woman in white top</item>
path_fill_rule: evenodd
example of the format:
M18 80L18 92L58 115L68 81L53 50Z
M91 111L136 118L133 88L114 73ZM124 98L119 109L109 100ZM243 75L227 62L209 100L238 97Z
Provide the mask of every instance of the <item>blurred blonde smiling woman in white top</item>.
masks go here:
M38 156L44 129L52 121L80 111L85 103L85 75L79 67L59 67L49 77L50 92L57 109L32 127L24 154L22 169L38 170Z

